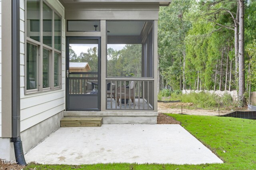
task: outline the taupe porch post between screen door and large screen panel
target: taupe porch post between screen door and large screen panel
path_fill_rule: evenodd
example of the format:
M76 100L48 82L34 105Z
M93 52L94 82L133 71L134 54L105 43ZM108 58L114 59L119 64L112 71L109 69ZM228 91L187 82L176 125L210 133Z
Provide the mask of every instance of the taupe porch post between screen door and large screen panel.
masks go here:
M101 36L101 72L100 72L100 79L101 79L101 96L100 96L100 110L106 111L106 59L107 59L107 38L106 38L106 20L100 21L100 36Z

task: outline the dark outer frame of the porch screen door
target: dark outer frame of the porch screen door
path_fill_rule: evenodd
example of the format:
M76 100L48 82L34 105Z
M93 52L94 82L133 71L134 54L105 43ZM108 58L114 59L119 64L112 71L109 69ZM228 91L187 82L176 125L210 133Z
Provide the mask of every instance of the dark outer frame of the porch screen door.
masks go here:
M70 39L97 39L98 40L98 109L69 109L69 82L67 78L67 70L69 70L69 42ZM66 36L66 66L65 66L65 79L66 79L66 111L100 111L101 110L101 37L88 37L88 36Z

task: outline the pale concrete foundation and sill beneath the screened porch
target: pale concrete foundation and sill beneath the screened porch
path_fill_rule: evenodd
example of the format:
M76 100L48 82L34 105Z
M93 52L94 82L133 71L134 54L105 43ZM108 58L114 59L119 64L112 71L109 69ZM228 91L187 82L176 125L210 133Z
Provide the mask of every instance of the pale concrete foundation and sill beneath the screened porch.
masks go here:
M65 117L102 117L103 124L156 124L157 112L64 111Z

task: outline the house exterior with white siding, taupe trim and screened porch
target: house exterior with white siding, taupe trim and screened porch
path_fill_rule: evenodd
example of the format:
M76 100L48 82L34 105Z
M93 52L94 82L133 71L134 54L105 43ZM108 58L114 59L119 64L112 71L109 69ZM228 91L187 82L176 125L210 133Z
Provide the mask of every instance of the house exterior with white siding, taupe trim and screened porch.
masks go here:
M14 1L19 11L12 10ZM56 131L64 116L156 123L158 12L170 0L0 4L1 159L14 159L14 128L26 153Z

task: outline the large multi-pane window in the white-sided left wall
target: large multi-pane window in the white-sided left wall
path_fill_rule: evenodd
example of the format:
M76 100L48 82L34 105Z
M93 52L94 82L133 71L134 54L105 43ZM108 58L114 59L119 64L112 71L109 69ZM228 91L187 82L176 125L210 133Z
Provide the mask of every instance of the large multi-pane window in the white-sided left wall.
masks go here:
M44 0L26 1L26 93L61 88L61 23Z

